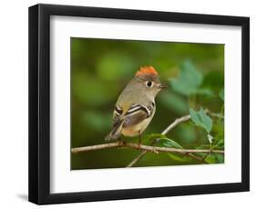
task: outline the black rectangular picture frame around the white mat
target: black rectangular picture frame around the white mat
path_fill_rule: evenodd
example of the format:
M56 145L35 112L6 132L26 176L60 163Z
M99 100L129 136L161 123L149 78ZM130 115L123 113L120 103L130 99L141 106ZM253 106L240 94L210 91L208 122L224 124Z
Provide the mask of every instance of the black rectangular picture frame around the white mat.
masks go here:
M241 183L50 194L50 16L241 26ZM29 201L64 204L89 201L216 194L250 190L250 18L70 5L29 7Z

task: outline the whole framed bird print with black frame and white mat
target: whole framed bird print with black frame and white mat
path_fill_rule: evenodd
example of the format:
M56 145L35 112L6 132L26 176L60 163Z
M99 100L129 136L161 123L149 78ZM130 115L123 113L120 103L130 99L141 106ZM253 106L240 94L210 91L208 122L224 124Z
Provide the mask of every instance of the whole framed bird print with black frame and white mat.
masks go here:
M29 7L29 201L249 191L249 17Z

